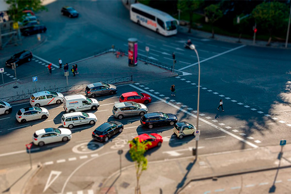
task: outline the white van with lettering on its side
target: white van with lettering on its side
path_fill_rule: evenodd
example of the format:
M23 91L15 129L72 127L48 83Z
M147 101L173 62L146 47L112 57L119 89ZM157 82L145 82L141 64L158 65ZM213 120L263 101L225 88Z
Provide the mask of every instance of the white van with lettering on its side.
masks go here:
M99 107L99 102L97 99L88 98L84 95L72 95L66 96L64 99L64 109L66 113L72 113L76 111L84 110L97 110Z

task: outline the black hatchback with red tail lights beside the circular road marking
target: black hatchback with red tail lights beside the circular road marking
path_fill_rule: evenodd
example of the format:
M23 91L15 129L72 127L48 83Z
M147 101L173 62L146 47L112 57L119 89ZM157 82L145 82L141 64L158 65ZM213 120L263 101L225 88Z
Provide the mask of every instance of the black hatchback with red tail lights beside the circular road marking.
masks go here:
M112 137L118 132L121 133L122 130L123 130L122 123L118 121L109 121L97 127L92 132L92 138L100 142L107 142L110 137Z

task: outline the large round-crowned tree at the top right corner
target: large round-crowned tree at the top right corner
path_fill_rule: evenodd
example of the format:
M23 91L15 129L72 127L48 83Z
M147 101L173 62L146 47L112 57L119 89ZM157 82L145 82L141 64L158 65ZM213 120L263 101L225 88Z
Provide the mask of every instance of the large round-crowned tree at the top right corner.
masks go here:
M262 2L252 11L252 16L255 18L257 25L261 27L261 30L269 32L270 36L267 43L267 46L269 46L273 31L285 25L288 17L288 7L278 1Z

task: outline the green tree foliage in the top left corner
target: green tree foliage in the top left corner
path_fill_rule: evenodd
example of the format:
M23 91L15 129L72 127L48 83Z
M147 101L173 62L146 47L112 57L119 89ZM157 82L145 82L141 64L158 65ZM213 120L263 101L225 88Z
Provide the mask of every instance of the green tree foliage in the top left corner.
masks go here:
M14 21L22 21L23 10L29 9L33 12L46 10L46 8L41 4L41 0L6 0L9 4L8 15Z

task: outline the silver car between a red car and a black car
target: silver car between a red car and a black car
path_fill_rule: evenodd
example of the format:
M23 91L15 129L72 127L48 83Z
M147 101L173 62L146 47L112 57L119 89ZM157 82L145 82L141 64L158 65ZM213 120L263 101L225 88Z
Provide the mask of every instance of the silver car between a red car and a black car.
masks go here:
M143 116L147 113L147 107L144 104L136 102L120 102L113 106L113 116L122 119L124 116Z

